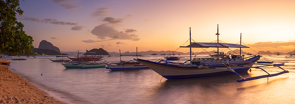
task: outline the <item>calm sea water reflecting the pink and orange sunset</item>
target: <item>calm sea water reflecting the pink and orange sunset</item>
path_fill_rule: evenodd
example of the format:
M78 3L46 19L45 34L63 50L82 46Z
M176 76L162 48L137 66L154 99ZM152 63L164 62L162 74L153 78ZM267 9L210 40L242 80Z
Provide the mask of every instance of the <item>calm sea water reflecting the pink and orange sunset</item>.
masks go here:
M65 69L60 62L48 60L55 59L55 56L36 57L8 60L12 62L9 69L50 96L71 104L295 103L295 57L286 55L264 57L277 63L285 62L282 67L289 73L246 82L236 82L240 77L235 74L161 80L162 76L149 68L119 71L106 68ZM124 56L122 60L133 58L136 57ZM163 55L138 58L159 59ZM101 62L119 62L119 57L106 56L104 59ZM283 71L273 66L264 69L271 74ZM252 68L251 72L240 75L248 78L266 73Z

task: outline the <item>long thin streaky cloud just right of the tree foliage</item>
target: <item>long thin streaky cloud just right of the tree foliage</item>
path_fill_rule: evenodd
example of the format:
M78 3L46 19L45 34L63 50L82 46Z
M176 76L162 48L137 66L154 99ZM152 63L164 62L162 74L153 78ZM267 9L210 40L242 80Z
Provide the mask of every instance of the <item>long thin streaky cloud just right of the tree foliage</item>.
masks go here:
M28 17L27 15L18 16L17 18L24 21L32 21L32 22L40 22L40 23L71 25L71 26L78 25L78 23L63 22L63 21L58 21L58 19L52 19L52 18L38 19L38 18Z

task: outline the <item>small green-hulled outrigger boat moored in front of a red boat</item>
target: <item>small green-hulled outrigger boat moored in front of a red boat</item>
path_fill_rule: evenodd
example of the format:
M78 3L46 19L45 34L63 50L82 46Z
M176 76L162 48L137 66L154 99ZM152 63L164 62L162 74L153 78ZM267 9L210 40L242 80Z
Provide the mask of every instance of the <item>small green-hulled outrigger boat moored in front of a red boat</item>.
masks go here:
M105 63L97 63L95 61L92 62L64 62L61 63L65 68L101 68L101 67L106 67Z

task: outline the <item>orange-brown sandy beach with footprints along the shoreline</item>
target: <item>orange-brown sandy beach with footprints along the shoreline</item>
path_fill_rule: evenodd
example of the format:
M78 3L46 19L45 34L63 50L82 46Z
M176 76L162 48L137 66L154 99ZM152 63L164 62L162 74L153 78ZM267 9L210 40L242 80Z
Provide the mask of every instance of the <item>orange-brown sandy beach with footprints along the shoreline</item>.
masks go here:
M4 60L0 60L4 61ZM12 63L13 64L13 63ZM66 104L0 65L0 104Z

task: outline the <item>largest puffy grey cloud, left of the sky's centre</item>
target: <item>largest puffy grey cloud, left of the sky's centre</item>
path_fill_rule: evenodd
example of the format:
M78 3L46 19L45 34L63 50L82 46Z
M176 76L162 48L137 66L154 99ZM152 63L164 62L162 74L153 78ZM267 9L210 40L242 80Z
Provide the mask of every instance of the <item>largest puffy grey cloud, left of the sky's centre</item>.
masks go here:
M108 24L101 24L99 26L94 27L94 29L91 30L91 33L96 35L99 39L106 39L106 37L109 37L111 39L123 39L123 40L133 40L138 41L140 38L138 38L138 35L135 34L127 34L125 32L120 32L116 30L112 25ZM106 41L106 40L102 40Z

